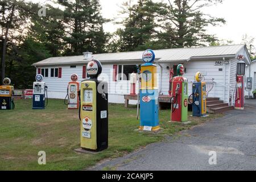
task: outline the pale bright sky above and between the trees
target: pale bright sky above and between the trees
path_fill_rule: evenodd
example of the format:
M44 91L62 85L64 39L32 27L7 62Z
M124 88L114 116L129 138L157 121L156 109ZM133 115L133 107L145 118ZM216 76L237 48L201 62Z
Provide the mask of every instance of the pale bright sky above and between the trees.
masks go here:
M100 0L104 18L117 17L123 1L125 0ZM163 1L167 2L167 0ZM233 40L234 44L241 44L243 35L247 34L255 38L254 46L256 47L255 7L255 0L223 0L223 3L204 8L204 13L226 20L226 24L222 26L207 27L208 33L216 35L219 39ZM108 32L114 32L117 28L118 25L113 23L104 25L104 30Z

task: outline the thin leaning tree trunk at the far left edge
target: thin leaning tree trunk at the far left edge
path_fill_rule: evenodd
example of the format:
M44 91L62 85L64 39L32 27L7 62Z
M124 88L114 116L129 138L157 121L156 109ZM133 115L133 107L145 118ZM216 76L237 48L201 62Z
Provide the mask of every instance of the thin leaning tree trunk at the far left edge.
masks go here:
M15 10L15 2L13 4L13 6L11 7L10 20L6 24L5 39L3 40L3 49L2 49L2 80L3 80L3 78L5 78L6 44L7 44L7 39L8 39L9 28L11 26L11 23L13 22L14 10Z

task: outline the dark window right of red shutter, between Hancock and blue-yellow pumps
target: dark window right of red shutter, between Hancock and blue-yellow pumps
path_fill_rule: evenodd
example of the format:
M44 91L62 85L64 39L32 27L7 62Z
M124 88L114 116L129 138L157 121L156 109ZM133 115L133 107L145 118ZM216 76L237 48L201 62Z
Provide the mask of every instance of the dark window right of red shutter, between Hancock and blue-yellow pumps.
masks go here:
M138 65L119 65L118 80L129 80L131 73L138 73Z

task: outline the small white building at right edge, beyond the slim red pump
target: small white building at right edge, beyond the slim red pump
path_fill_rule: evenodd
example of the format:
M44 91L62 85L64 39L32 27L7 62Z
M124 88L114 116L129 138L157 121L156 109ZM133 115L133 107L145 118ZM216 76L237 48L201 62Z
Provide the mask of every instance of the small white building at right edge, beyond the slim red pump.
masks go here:
M256 90L256 59L251 61L250 65L246 65L246 92L245 96L247 98L253 98L253 92ZM250 78L250 79L249 79ZM248 86L248 81L251 80L251 88Z

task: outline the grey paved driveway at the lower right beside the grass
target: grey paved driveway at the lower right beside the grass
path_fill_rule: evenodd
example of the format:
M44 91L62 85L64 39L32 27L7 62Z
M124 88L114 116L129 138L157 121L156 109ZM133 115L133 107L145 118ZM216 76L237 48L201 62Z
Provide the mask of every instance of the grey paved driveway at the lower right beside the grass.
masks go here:
M181 135L92 169L256 170L256 100L246 100L246 110L229 111L224 118L183 131ZM216 152L216 165L209 164L210 151Z

